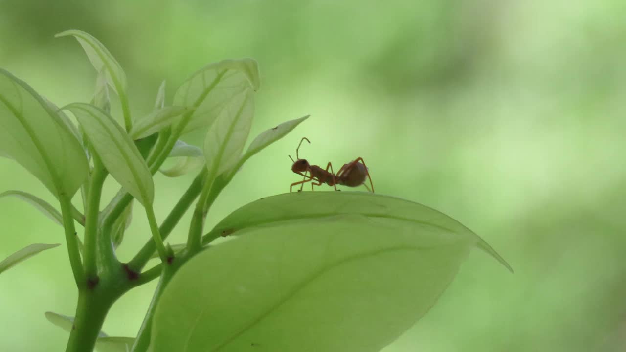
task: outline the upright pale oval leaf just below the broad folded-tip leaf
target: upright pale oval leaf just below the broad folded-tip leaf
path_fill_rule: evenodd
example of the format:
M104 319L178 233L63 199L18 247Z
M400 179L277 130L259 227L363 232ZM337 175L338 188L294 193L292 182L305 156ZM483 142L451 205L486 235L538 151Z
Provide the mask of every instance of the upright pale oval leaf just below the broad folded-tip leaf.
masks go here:
M203 151L208 169L216 176L239 161L253 117L254 96L252 90L244 88L228 101L209 128Z

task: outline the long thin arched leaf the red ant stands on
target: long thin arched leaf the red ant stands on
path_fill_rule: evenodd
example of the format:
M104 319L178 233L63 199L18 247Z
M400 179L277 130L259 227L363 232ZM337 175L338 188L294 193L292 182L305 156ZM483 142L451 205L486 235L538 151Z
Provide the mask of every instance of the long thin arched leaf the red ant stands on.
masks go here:
M360 214L372 218L394 217L463 234L472 238L476 246L490 254L509 271L513 271L505 259L487 242L448 215L409 200L365 192L298 192L260 199L225 217L205 236L203 242L206 244L210 239L220 235L237 234L237 231L247 227L279 225L284 221L297 219L323 219L336 214Z

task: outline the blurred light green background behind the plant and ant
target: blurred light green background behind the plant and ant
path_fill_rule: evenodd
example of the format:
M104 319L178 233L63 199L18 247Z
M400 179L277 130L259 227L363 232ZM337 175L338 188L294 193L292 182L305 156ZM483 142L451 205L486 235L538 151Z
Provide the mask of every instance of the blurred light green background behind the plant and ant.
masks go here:
M312 117L246 163L208 225L286 192L299 180L287 155L305 136L302 157L363 157L377 192L451 215L515 268L475 251L384 352L624 351L625 14L621 0L0 0L0 66L58 105L89 101L95 70L74 39L53 38L82 29L125 68L140 116L163 79L171 101L205 64L255 58L251 135ZM160 219L191 178L156 177ZM3 159L8 189L53 200ZM116 189L110 182L105 199ZM61 227L16 199L1 200L0 214L0 257L63 242ZM138 215L120 257L147 238ZM104 331L134 336L154 284L120 299ZM0 351L64 350L67 334L43 313L73 315L75 300L64 247L3 273Z

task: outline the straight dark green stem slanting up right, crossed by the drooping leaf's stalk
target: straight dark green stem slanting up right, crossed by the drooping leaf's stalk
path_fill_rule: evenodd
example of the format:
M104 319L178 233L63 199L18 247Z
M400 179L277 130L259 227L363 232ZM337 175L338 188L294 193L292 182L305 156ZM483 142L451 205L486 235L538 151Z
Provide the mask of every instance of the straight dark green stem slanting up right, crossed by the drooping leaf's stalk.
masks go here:
M193 179L193 182L189 185L180 200L178 200L177 204L174 205L170 214L167 215L167 218L163 221L163 224L161 224L159 232L163 239L167 238L170 232L172 232L174 227L178 224L178 221L180 221L185 212L187 212L187 209L189 209L190 205L192 205L193 201L198 197L198 194L200 194L207 172L207 168L202 168L202 171ZM140 272L155 252L155 246L154 241L147 241L136 256L128 262L128 267L133 271Z

